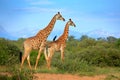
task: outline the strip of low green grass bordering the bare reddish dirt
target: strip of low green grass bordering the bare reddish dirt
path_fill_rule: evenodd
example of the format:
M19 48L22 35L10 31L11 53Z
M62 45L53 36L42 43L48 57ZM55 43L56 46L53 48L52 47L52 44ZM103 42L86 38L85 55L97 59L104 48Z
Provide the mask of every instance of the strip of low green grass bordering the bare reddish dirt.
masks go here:
M0 75L0 80L14 80L22 79L22 80L32 80L32 75L35 73L50 73L50 74L78 74L80 76L95 76L95 75L106 75L105 80L119 80L120 79L120 68L119 67L94 67L89 71L79 71L74 73L68 73L66 71L61 71L57 67L51 66L51 70L48 70L46 65L38 66L37 70L30 70L28 66L24 65L22 71L19 71L19 65L14 66L0 66L0 73L8 72L12 74L12 77L6 75ZM6 78L5 78L6 77ZM3 79L4 78L4 79Z

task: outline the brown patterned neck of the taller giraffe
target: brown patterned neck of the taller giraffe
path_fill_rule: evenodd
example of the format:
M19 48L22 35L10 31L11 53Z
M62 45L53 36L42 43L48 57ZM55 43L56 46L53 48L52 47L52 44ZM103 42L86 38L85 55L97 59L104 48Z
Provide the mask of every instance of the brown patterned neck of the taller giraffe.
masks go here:
M43 30L40 30L36 36L39 36L40 34L45 35L46 37L50 34L50 32L52 31L54 25L56 22L56 18L55 16L52 18L52 20L50 21L50 23L47 25L47 27L45 27Z

